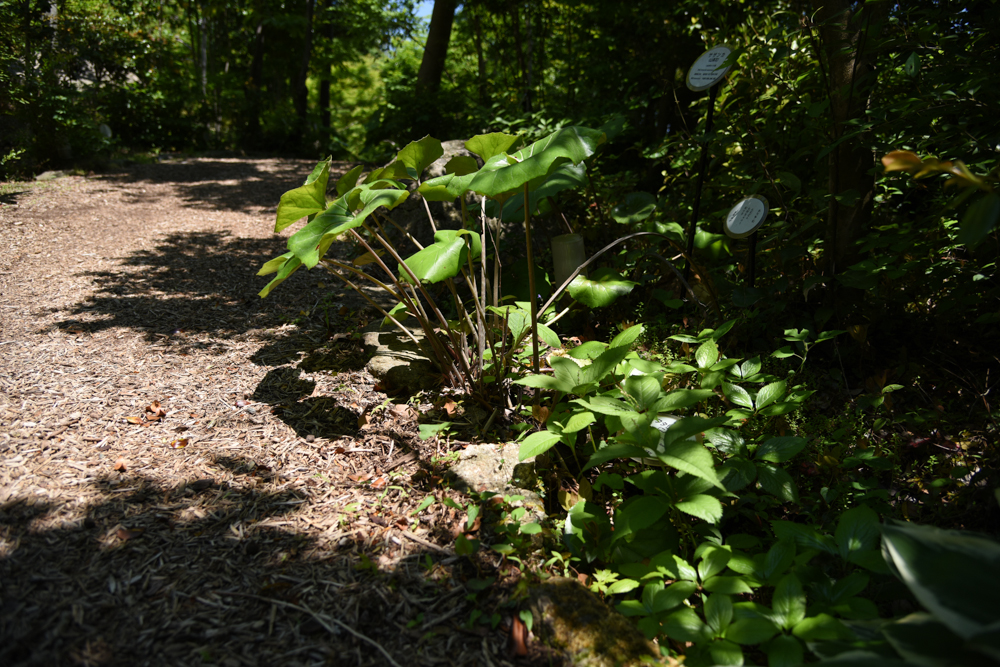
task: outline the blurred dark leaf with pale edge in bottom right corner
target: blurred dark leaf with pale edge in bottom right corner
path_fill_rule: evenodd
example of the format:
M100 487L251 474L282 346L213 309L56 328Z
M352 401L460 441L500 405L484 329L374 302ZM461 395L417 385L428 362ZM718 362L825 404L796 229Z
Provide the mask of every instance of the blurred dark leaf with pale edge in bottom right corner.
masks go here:
M997 622L1000 544L977 535L886 521L882 551L928 611L960 637Z

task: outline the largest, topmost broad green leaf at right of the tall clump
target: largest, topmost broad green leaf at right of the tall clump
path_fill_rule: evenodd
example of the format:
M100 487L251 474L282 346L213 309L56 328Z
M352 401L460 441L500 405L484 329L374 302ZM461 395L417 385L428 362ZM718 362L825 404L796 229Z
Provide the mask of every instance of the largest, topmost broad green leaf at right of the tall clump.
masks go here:
M604 133L600 130L564 127L514 153L507 164L493 162L501 155L493 156L487 164L493 163L498 168L487 169L484 165L469 189L493 198L516 194L525 183L547 176L567 160L574 164L586 160L604 141Z

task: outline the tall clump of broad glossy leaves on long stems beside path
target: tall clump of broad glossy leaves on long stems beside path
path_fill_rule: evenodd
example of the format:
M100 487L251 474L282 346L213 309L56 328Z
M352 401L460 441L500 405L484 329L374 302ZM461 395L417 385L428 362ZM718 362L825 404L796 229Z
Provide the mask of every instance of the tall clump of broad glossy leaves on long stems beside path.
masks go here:
M327 200L330 161L321 162L304 185L281 198L276 231L302 218L308 222L288 239L289 251L260 270L259 275L276 274L261 296L267 296L301 266L322 265L377 308L384 323L391 322L423 348L447 384L493 407L505 395L529 334L536 371L539 339L552 347L559 347L560 342L545 322L539 321L548 315L544 309L539 314L534 299L528 303L504 299L495 253L499 229L487 219L486 199L502 206L520 195L522 201L530 202L533 191L549 184L567 165L586 160L603 141L604 134L599 130L567 127L515 150L520 143L517 136L479 135L466 142L466 147L482 160L482 166L475 158L458 156L448 162L444 176L422 181L427 166L443 154L439 141L425 137L403 148L395 161L372 171L363 181L361 167L352 169L337 181L337 195L332 201ZM458 199L462 227L438 229L427 208L434 243L422 247L390 215L410 195L407 181L417 183L417 191L425 200ZM546 192L552 191L550 185ZM469 213L470 194L481 198L478 216ZM534 293L531 206L522 207L529 282ZM399 229L419 250L402 257L386 231L389 226ZM344 234L364 251L350 262L328 255L334 241ZM393 270L393 265L398 269ZM372 275L366 266L377 267L381 276ZM362 281L384 290L395 305L382 308L360 288ZM439 304L428 289L436 283L446 286L450 308ZM407 317L413 317L417 326L405 325Z

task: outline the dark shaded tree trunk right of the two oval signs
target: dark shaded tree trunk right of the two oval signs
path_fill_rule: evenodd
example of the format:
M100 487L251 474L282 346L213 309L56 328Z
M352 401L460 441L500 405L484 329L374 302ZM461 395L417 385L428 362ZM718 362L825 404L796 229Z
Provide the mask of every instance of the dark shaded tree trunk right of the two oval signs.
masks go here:
M840 142L828 156L830 208L824 252L829 275L858 261L856 243L868 228L875 194L875 156L867 142L857 136L842 138L848 122L864 119L868 108L877 80L875 46L888 3L855 5L849 0L813 0L827 68L832 140Z

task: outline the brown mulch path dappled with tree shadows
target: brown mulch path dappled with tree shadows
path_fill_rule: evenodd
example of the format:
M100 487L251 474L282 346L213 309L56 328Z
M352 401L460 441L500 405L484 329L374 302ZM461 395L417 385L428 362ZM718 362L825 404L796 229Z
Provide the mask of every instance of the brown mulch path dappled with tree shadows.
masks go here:
M435 408L337 335L372 312L317 271L257 297L311 167L0 190L0 664L527 664L464 512L418 509L461 501Z

